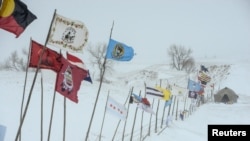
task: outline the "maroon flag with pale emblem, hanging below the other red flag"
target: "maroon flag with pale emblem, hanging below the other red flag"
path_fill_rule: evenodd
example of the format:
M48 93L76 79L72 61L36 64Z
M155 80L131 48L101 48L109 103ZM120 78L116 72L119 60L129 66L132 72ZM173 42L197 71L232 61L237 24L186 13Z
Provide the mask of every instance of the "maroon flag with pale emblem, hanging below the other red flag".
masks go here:
M62 68L57 73L56 91L73 102L78 103L77 92L80 89L82 78L87 76L87 71L71 64L63 56Z

